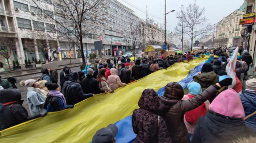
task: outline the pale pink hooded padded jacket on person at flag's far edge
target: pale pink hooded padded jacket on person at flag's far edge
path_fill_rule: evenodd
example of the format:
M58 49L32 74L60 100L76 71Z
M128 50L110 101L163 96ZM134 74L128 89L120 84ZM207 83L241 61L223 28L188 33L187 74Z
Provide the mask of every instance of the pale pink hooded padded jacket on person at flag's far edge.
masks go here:
M108 86L111 90L116 90L121 86L125 86L126 84L121 82L120 77L117 76L117 71L115 68L110 69L111 75L108 77Z

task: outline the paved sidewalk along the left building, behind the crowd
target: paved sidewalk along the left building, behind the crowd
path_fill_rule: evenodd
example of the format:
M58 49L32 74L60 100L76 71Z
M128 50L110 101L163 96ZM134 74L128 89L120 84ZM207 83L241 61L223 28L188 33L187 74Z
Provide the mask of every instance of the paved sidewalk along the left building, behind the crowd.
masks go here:
M108 59L108 58L114 58L114 57L102 56L102 58ZM89 58L85 58L85 61L87 61L87 59L89 59ZM60 69L63 69L64 66L77 67L82 64L82 62L80 62L80 60L82 60L82 59L81 58L77 58L77 59L72 58L71 63L70 63L70 59L66 59L66 60L62 59L62 61L54 60L53 62L46 63L46 64L42 65L42 67L35 67L35 65L33 63L33 68L30 68L30 69L26 69L25 65L20 65L22 70L15 70L15 71L9 71L9 66L4 66L5 72L0 73L0 75L2 76L2 78L8 78L11 76L20 77L20 76L41 73L41 69L43 69L43 68L52 69L52 70L60 70ZM91 64L94 64L94 62L95 62L95 60L90 59ZM11 70L12 70L12 66L11 66Z

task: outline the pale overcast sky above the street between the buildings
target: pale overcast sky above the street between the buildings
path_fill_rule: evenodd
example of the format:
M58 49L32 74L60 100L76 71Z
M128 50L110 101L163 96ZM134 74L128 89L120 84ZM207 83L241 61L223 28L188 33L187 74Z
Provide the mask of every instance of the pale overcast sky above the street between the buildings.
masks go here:
M142 19L146 19L146 9L148 10L148 18L154 18L155 23L163 24L165 13L165 0L117 0L126 7L135 11L135 15ZM180 11L180 6L185 7L194 0L166 0L166 15L167 30L175 33L174 27L178 23L176 13ZM228 16L231 12L240 8L244 0L196 0L199 7L206 9L205 16L208 23L215 24L222 20L223 17ZM147 6L147 8L146 8ZM143 12L142 12L143 11ZM157 17L157 18L156 18ZM159 19L161 18L161 19Z

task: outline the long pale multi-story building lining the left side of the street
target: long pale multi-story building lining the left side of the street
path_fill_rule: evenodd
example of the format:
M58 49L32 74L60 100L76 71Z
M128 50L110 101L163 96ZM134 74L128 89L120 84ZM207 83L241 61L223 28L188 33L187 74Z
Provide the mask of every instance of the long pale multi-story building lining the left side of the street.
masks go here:
M41 0L41 2L54 9L51 0ZM108 11L108 20L89 24L89 26L88 24L85 25L97 29L97 32L93 34L88 32L83 37L84 51L80 51L78 47L69 45L68 40L59 39L56 31L59 27L54 26L53 22L40 19L37 15L44 13L34 5L23 0L0 0L0 38L11 37L15 39L16 46L10 59L18 59L20 64L24 64L25 59L32 61L32 57L41 61L45 61L45 57L53 57L58 60L64 56L76 58L81 56L80 52L88 57L91 52L98 53L94 48L94 42L98 40L103 41L102 53L119 56L122 51L129 48L125 35L131 33L131 21L135 25L146 22L138 18L134 11L116 0L110 0L108 9L105 10ZM54 15L52 11L44 11ZM60 17L54 15L54 19L60 19ZM156 30L158 33L164 33L161 28L156 28ZM66 35L72 36L68 31L66 31ZM148 40L146 38L144 40L146 42L143 42L143 46L146 46L145 43ZM69 49L70 46L73 47L71 50ZM3 45L0 45L1 47ZM0 57L0 61L7 65L7 60L3 57Z

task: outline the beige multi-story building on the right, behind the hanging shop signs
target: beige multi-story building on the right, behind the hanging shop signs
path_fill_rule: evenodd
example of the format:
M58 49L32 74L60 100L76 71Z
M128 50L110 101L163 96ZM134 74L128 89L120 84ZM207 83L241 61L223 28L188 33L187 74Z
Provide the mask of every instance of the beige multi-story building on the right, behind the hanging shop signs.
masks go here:
M237 47L242 45L241 31L243 27L239 25L239 20L246 12L246 5L247 1L239 9L217 23L214 47Z

